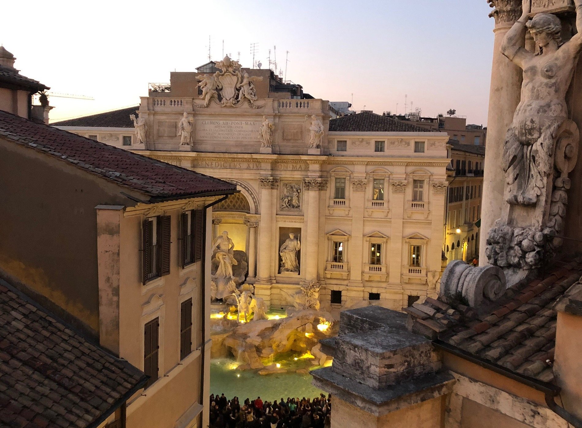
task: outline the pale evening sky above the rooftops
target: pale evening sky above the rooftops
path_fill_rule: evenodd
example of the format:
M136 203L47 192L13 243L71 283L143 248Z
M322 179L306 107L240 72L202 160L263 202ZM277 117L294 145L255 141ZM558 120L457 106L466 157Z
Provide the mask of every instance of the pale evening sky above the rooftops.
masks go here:
M0 43L16 67L54 92L51 121L137 105L148 82L195 71L230 53L265 68L268 49L287 79L353 109L424 116L453 108L487 124L494 22L485 0L5 2ZM34 13L32 13L34 12ZM409 107L410 108L410 107Z

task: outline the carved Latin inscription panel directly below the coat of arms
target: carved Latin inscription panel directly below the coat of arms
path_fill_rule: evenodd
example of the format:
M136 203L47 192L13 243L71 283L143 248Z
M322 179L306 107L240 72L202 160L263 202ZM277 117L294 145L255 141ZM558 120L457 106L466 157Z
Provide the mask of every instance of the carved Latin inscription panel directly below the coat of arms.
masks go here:
M200 120L196 124L196 139L211 141L260 141L260 121Z

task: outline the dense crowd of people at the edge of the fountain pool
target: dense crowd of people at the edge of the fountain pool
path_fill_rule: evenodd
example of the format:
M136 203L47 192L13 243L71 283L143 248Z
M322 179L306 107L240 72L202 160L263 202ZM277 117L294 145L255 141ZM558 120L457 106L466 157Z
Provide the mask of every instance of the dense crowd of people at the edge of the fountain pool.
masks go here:
M210 428L329 428L331 395L262 401L210 395Z

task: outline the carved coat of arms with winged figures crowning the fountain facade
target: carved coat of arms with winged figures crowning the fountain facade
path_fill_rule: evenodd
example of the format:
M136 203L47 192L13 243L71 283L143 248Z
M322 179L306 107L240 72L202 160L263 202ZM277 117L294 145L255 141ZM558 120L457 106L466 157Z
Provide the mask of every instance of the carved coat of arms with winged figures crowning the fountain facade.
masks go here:
M238 61L230 59L228 55L222 61L216 63L218 69L214 74L199 74L196 77L201 80L198 86L202 89L200 98L203 104L195 104L196 107L208 107L211 100L222 107L237 107L245 102L254 109L264 106L256 106L257 91L254 82L261 81L260 76L249 76L242 71Z

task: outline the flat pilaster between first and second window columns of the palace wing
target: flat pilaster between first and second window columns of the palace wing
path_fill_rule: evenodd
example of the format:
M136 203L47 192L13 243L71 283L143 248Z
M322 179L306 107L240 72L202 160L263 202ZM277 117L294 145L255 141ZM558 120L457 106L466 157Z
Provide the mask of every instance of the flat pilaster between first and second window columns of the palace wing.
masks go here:
M362 287L362 268L364 249L364 204L365 204L365 179L354 179L352 181L352 238L348 244L347 251L350 263L350 280L348 284L352 287ZM366 250L365 254L370 252Z

